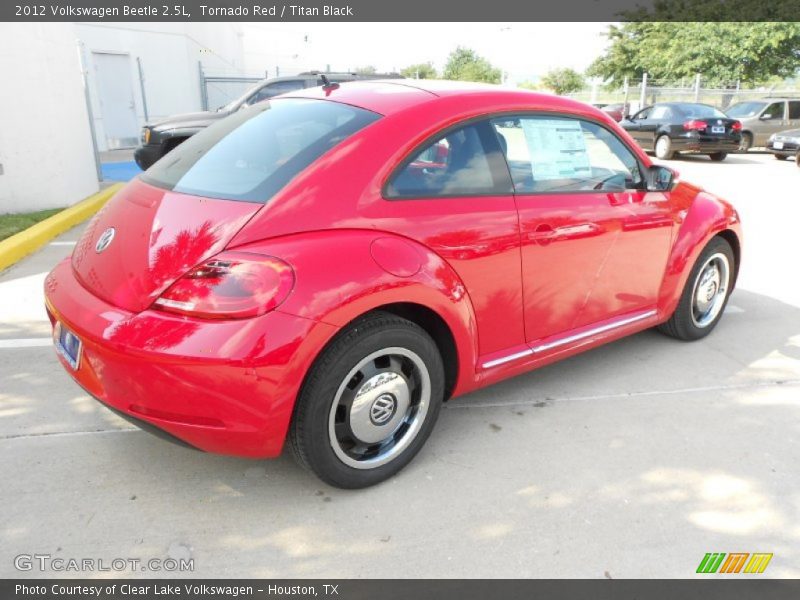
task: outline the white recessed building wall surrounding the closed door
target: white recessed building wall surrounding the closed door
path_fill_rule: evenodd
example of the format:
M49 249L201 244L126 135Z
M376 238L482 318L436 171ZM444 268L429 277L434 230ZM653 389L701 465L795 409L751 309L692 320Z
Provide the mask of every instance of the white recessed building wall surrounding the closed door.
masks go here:
M237 74L243 69L241 26L236 23L76 23L88 67L98 149L108 149L96 78L96 53L126 54L134 89L136 117L145 123L202 107L198 63L207 73ZM137 59L141 62L143 86Z

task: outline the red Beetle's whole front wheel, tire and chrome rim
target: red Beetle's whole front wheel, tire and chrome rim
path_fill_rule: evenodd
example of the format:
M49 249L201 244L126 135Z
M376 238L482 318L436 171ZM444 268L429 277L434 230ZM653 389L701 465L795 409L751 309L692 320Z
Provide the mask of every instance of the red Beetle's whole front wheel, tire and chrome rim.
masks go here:
M659 330L687 341L711 333L728 303L735 268L731 245L721 237L713 238L692 268L678 307Z

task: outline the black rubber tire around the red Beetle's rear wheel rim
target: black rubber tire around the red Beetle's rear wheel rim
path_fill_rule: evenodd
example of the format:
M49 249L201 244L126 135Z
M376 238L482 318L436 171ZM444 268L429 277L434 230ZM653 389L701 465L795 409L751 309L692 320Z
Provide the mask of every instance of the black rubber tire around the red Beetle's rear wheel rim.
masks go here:
M389 351L388 349L394 350ZM389 366L381 366L380 361L384 360L382 355L374 360L367 361L370 356L382 351L387 351L388 353L385 360ZM394 354L395 351L404 351L415 358L396 355ZM427 370L429 381L427 389L430 391L427 409L421 417L420 413L423 411L419 408L419 406L422 406L420 398L427 396L424 391L426 389L424 384L426 376L421 367L418 367L418 363L414 362L416 359L419 359ZM402 368L395 368L395 361L399 365L403 360L408 360L410 366L403 364ZM364 361L367 362L364 363ZM362 363L364 363L362 370L368 374L362 374L362 370L358 370L355 375L351 375L356 369L359 369ZM393 368L394 370L392 370ZM384 370L381 371L381 369ZM377 442L377 444L382 444L382 448L397 450L397 453L392 455L385 464L364 466L367 463L362 459L354 458L354 456L348 454L351 451L357 454L357 451L360 450L359 444L365 447L372 447L366 442L361 442L355 435L356 417L353 416L352 407L358 400L362 390L366 388L367 391L364 394L368 394L376 389L376 386L358 386L365 381L372 381L373 378L387 372L390 376L399 373L403 378L403 383L407 385L409 390L412 390L408 394L408 397L411 398L408 403L409 412L404 413L409 416L404 417L400 414L401 401L398 400L391 409L395 412L390 417L390 421L386 422L386 425L389 428L393 426L395 414L400 418L400 421L398 421L400 425L388 438L382 442ZM361 376L361 379L358 379L359 376ZM370 379L367 379L367 377L370 377ZM395 379L397 379L396 376ZM371 313L339 334L323 350L310 369L297 399L294 417L289 430L289 442L293 454L300 465L311 470L320 479L332 486L356 489L380 483L405 467L422 448L439 416L439 410L444 398L444 381L442 357L435 342L421 327L391 313ZM340 406L341 398L348 393L353 396L349 407L346 405ZM418 423L410 420L410 415L413 414L414 410L415 394L418 402L416 414L417 418L420 419ZM362 421L362 425L366 423L368 427L371 427L372 432L379 431L379 427L381 427L373 420L373 408L385 396L387 394L382 393L381 396L372 401L368 409L371 425L366 421ZM388 396L394 398L392 394L388 394ZM392 400L389 400L389 402L392 402ZM333 408L334 403L336 403L335 410ZM363 415L363 413L364 411L359 414ZM363 416L361 418L363 419ZM343 422L339 422L339 420ZM408 425L411 422L414 425ZM336 429L337 433L334 435L333 430L339 427L341 429ZM404 427L406 427L405 430L403 429ZM340 431L345 432L345 438L348 435L350 438L341 441L339 439ZM386 431L388 432L390 429ZM406 433L402 433L403 431ZM408 436L408 432L411 431L416 433L413 436L409 436L409 440L400 437L399 442L393 442L393 436ZM347 449L347 445L350 442L353 445L350 449ZM394 443L395 447L392 446L392 443ZM403 444L407 445L403 447ZM381 453L385 454L388 451L379 448L378 450L368 450L368 452L377 452L376 459L384 460L386 457L382 458ZM350 461L350 464L345 461ZM351 464L358 464L361 468L351 466Z

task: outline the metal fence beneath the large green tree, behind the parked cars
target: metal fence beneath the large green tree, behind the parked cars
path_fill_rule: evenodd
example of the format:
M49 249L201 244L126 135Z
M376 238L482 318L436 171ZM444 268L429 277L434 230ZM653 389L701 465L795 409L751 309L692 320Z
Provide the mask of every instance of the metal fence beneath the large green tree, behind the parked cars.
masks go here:
M782 96L800 98L800 88L749 89L742 87L739 82L704 82L699 76L694 81L659 81L645 76L640 81L626 81L622 86L612 89L595 82L580 92L570 94L570 97L582 102L625 103L630 113L656 102L702 102L725 110L737 102Z

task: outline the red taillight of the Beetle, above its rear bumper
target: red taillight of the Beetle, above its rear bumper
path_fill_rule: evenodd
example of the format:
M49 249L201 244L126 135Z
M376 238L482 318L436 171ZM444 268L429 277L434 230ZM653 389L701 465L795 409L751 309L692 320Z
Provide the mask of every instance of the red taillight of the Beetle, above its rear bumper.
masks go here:
M277 308L292 287L294 272L279 258L223 252L173 283L154 306L207 319L242 319Z

